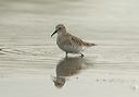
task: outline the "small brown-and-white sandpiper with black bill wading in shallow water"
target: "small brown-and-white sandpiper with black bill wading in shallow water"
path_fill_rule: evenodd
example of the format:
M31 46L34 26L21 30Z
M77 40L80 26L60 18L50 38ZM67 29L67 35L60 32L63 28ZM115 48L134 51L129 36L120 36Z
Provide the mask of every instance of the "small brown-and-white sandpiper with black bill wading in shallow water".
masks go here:
M66 57L67 53L81 53L86 47L96 46L96 44L90 44L81 40L80 38L73 36L66 32L66 28L63 24L59 24L55 26L55 32L51 35L51 37L58 33L56 45L60 49L65 51Z

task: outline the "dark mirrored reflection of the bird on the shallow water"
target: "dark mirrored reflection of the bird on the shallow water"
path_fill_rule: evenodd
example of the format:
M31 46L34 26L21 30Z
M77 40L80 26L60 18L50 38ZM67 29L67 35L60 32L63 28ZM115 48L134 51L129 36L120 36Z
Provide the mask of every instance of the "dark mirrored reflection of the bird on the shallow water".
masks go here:
M53 78L56 87L63 87L65 77L78 74L80 70L86 69L86 60L81 57L64 58L56 65L56 77Z

